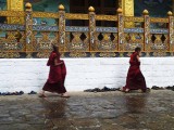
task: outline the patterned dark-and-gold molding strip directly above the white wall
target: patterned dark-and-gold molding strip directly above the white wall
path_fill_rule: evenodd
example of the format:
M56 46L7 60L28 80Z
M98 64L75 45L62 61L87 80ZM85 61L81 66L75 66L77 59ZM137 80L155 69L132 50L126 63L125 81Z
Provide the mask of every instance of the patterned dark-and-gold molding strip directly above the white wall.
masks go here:
M61 52L61 57L129 57L133 53L130 52ZM50 52L29 52L29 53L18 53L18 52L0 52L0 58L48 58ZM173 52L142 52L141 57L154 57L154 56L172 56Z

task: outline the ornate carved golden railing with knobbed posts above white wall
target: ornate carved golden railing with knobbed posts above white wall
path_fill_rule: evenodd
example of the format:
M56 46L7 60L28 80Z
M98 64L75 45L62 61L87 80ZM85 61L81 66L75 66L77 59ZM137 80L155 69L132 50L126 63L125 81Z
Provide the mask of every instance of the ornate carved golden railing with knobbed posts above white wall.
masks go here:
M130 1L129 1L130 2ZM127 10L126 10L127 11ZM88 14L66 13L63 5L59 12L33 12L32 4L25 11L0 11L0 16L23 17L25 25L0 24L0 57L48 57L51 46L58 44L62 56L66 57L115 57L128 56L134 48L142 48L142 56L172 56L174 54L174 17L150 17L147 10L141 17L125 16L117 9L116 15L97 15L92 6ZM53 26L35 25L34 18L54 18ZM66 26L66 21L88 21L88 27ZM112 21L115 27L97 27L96 21ZM140 26L126 28L124 23ZM167 25L151 28L150 24Z

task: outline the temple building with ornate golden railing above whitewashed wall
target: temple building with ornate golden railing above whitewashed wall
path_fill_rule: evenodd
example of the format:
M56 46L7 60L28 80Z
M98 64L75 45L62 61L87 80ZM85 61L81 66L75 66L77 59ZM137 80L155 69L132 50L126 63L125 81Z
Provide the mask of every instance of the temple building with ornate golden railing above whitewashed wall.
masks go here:
M67 91L123 87L136 47L147 86L173 86L173 14L174 0L0 0L0 89L39 91L52 44Z

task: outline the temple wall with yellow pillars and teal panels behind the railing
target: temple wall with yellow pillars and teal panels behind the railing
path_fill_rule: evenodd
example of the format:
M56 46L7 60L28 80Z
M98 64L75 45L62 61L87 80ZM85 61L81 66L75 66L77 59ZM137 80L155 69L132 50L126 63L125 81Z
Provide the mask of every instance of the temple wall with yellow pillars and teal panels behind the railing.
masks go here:
M96 14L116 14L116 9L122 8L125 16L141 16L141 12L147 9L150 16L164 17L167 11L174 10L173 0L0 0L0 10L21 10L25 8L25 3L33 4L33 11L39 12L58 12L58 5L63 4L66 13L88 13L88 8L94 6ZM15 4L17 8L14 8ZM4 17L0 22L5 21ZM53 24L51 20L38 20ZM69 22L69 25L84 26L85 21ZM97 22L97 26L115 26L114 23Z

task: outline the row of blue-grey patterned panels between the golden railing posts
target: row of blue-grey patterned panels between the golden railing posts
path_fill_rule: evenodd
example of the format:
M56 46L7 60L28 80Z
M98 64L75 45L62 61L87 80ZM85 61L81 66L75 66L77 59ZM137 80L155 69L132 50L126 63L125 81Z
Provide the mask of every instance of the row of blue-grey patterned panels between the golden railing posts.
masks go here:
M25 30L24 25L0 24L1 30ZM33 25L33 30L59 31L58 26ZM89 31L89 27L66 26L65 31ZM96 27L97 32L117 32L117 27ZM124 32L144 32L144 28L124 28ZM150 29L151 34L169 34L167 29Z

